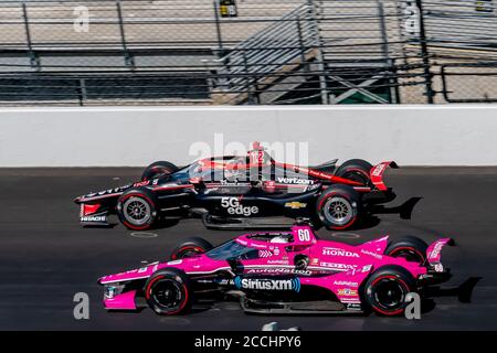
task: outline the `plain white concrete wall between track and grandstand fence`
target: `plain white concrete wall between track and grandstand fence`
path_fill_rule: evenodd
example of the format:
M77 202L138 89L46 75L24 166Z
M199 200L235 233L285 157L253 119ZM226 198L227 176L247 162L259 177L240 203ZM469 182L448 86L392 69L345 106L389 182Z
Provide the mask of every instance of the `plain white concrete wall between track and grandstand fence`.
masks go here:
M193 142L308 142L309 162L497 165L497 105L3 108L0 167L188 163Z

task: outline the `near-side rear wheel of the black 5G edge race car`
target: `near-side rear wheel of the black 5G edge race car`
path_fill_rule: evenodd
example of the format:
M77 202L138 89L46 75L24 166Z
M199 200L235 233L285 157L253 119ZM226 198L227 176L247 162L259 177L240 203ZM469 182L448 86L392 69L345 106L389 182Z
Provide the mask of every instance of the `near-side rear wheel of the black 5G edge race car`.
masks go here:
M362 201L351 186L336 184L326 189L317 199L316 214L330 229L350 228L362 213Z

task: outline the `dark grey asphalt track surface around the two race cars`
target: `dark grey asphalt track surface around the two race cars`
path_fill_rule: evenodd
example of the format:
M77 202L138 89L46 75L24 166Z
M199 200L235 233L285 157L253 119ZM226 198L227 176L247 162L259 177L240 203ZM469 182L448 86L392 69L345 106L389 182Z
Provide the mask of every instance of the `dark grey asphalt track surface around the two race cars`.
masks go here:
M497 168L405 168L387 181L398 193L380 222L351 232L320 229L324 238L357 243L391 234L426 242L450 236L443 252L454 274L424 306L421 320L368 317L246 315L236 302L220 302L182 317L107 313L99 276L166 259L182 238L202 236L219 244L240 231L207 231L200 220L182 221L154 234L133 236L114 228L82 228L74 196L134 181L137 169L0 169L1 330L261 330L264 323L303 330L495 330L497 329ZM395 208L422 197L412 208ZM414 204L413 200L406 204ZM408 207L409 208L409 207ZM408 210L409 211L409 210ZM147 236L147 237L146 237ZM477 280L479 278L479 280ZM477 282L476 282L477 281ZM466 282L466 286L458 287ZM467 286L467 284L476 285ZM452 289L450 287L453 287ZM473 287L473 288L472 288ZM86 292L89 320L75 320L73 297ZM470 302L464 302L470 295Z

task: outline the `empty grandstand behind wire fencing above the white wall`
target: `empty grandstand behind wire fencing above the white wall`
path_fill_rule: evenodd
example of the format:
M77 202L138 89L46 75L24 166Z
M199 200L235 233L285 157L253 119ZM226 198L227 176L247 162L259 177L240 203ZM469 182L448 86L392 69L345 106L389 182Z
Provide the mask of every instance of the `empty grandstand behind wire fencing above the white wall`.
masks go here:
M0 2L2 105L497 101L496 0Z

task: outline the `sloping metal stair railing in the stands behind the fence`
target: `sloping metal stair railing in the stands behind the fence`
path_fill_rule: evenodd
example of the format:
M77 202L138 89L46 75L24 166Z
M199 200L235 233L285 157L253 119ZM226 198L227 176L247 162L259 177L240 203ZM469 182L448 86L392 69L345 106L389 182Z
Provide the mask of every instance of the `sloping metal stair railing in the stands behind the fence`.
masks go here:
M305 3L282 17L247 40L235 45L219 60L204 61L216 74L212 87L234 93L228 101L240 98L258 103L254 92L277 81L277 74L305 65L309 53L317 47L315 18Z

